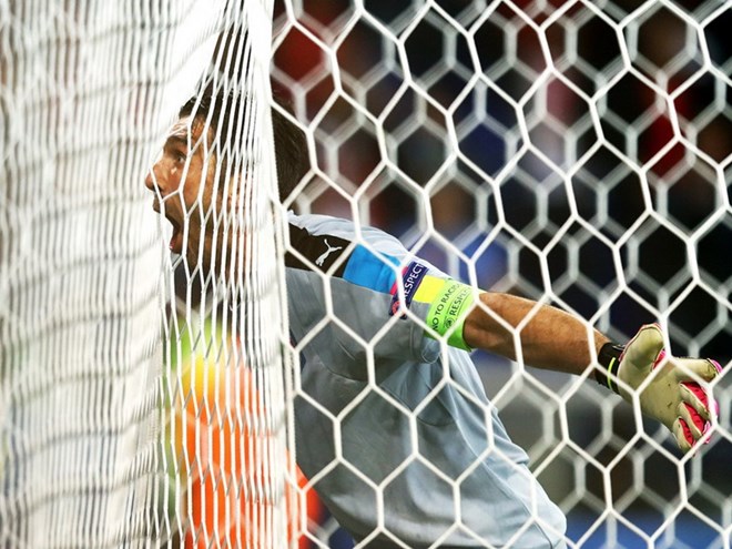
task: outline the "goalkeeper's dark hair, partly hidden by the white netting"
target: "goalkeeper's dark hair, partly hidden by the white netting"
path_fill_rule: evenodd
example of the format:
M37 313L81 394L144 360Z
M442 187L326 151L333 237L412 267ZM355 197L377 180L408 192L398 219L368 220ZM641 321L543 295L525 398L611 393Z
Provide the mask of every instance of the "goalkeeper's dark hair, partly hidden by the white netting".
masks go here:
M289 103L274 95L274 101L283 110L292 113ZM197 102L197 108L196 108ZM218 125L227 128L231 121L237 120L242 101L233 94L225 92L213 93L204 91L201 96L192 96L179 111L179 116L187 116L195 112L196 118L206 118L210 113L211 124L215 130ZM309 161L307 156L307 140L301 128L291 122L276 108L272 108L272 129L274 134L275 164L277 167L277 190L279 200L284 201L293 192L299 180L307 173ZM241 146L243 140L234 139L232 146ZM226 144L224 144L226 145ZM225 151L225 146L224 146ZM225 170L226 153L220 153L220 162ZM225 172L224 172L225 173Z

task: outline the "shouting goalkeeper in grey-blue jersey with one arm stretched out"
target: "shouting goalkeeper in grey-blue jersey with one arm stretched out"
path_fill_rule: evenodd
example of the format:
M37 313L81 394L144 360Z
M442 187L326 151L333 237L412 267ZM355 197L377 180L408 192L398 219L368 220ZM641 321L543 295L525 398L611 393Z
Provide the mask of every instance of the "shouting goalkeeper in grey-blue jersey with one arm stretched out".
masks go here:
M173 225L171 250L213 272L215 258L232 255L210 215L232 207L218 189L235 187L216 184L225 171L216 170L224 145L215 125L230 116L222 104L189 102L145 180ZM306 171L306 148L273 112L287 193ZM557 308L454 281L376 228L322 215L291 213L288 222L289 327L296 343L307 342L297 462L357 541L565 547L566 519L486 397L472 348L512 359L520 349L526 364L569 374L593 368L604 387L668 427L681 450L708 436L715 413L708 384L720 367L671 357L657 325L618 346Z

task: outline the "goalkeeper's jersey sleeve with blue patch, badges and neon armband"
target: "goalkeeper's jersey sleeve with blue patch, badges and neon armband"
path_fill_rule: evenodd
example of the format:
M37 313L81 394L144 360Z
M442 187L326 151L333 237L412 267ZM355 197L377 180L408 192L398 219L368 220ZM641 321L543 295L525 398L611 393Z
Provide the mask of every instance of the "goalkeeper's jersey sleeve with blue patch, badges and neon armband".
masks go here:
M458 328L476 294L470 286L414 258L380 231L366 230L356 240L338 227L325 228L331 231L301 228L294 235L299 253L288 266L309 275L288 276L289 286L299 281L294 294L288 288L289 299L308 296L307 305L291 308L307 308L313 325L329 315L332 336L348 356L370 349L380 360L430 363L439 356L441 336L467 348ZM303 312L291 311L291 322L293 316L302 318Z

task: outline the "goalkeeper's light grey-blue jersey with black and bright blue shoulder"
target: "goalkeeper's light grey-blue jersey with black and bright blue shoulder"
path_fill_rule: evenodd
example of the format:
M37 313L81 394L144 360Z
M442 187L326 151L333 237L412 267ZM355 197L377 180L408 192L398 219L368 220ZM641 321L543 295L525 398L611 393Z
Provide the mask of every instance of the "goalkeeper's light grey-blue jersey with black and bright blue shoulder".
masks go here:
M338 522L375 548L565 547L469 354L425 335L447 276L375 228L289 224L297 462Z

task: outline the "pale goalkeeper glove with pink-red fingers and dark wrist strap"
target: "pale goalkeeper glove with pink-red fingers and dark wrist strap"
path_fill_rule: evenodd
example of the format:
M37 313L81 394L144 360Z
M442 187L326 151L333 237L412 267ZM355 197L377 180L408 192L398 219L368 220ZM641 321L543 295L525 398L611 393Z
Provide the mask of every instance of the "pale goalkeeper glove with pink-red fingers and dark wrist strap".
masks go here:
M709 383L721 373L715 360L667 356L663 334L655 324L642 326L626 347L606 344L599 359L608 375L598 373L598 382L630 403L642 386L641 410L665 425L682 451L690 450L710 429L718 407L709 388L698 380Z

